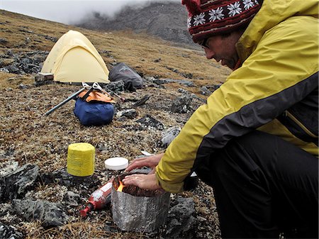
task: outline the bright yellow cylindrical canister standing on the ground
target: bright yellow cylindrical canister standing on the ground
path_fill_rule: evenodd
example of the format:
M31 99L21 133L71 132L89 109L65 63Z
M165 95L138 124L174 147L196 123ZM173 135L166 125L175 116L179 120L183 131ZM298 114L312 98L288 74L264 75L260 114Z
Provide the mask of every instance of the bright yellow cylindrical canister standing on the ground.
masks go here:
M89 143L72 143L67 148L67 172L77 177L94 173L95 148Z

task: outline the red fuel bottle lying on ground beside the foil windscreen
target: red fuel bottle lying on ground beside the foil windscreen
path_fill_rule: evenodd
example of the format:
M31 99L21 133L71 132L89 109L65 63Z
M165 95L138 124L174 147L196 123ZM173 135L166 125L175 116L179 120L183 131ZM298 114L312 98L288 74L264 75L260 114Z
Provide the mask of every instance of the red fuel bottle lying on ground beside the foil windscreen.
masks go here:
M111 189L113 179L110 179L99 189L96 189L87 201L85 209L80 211L82 217L86 217L87 213L96 209L103 209L107 204L111 202Z

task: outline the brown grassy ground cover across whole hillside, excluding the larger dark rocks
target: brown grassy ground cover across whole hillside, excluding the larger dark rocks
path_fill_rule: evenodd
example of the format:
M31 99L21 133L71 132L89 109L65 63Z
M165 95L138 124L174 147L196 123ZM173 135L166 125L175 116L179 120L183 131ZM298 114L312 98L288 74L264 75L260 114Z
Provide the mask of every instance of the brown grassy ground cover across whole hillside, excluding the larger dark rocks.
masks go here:
M136 122L145 115L156 118L164 129L182 127L191 113L203 104L207 96L200 94L202 86L218 85L225 80L230 70L218 63L206 60L203 52L192 48L131 32L103 33L43 21L28 16L0 10L0 68L21 60L21 54L46 56L55 41L67 30L78 30L86 35L100 52L108 69L117 62L125 62L146 79L186 79L194 87L186 87L178 82L156 87L150 81L136 92L122 92L129 99L122 103L118 99L116 109L131 109L135 100L149 94L146 104L136 108L134 118L114 118L108 126L81 126L73 114L71 101L50 116L43 113L79 89L67 84L45 84L35 87L35 74L12 74L0 71L0 168L9 162L18 165L33 163L40 167L40 174L54 172L66 167L67 147L71 143L86 142L96 147L96 178L99 185L91 189L78 189L59 184L38 184L28 191L25 199L46 199L63 201L66 191L74 191L81 196L79 206L69 208L69 221L65 226L43 228L39 221L26 221L9 209L6 201L0 204L0 222L15 226L26 238L165 238L165 228L153 235L143 233L123 233L112 224L111 210L106 209L91 214L85 220L79 217L79 209L85 204L92 190L108 181L110 174L103 167L108 157L127 157L133 160L140 150L157 153L161 145L162 129L144 127ZM191 103L188 113L172 113L172 101L181 96L181 89L197 97ZM1 175L0 175L1 176ZM186 238L219 238L218 220L213 191L200 182L195 191L172 195L194 199L196 221L192 233ZM5 211L5 209L8 209ZM2 213L2 214L1 214ZM106 230L111 225L113 230Z

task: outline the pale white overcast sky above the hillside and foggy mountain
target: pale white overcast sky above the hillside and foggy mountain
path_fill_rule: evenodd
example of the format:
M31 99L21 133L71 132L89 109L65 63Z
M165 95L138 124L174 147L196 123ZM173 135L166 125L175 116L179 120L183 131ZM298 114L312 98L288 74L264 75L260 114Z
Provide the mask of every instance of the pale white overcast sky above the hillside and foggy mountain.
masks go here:
M158 0L100 0L100 1L75 1L75 0L0 0L0 9L22 13L60 23L77 23L87 14L97 11L113 16L123 6L138 6ZM165 0L181 1L181 0Z

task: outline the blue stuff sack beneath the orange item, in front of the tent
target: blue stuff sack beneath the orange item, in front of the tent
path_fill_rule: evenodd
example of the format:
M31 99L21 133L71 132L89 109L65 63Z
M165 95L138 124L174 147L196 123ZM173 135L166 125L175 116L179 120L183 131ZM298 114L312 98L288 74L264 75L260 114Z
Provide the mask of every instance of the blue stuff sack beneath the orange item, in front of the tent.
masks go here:
M77 99L74 114L84 126L102 126L112 121L114 107L111 103L102 101L86 102Z

